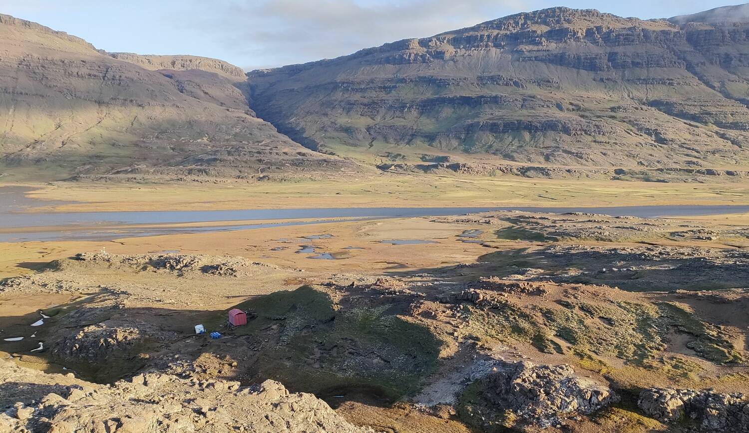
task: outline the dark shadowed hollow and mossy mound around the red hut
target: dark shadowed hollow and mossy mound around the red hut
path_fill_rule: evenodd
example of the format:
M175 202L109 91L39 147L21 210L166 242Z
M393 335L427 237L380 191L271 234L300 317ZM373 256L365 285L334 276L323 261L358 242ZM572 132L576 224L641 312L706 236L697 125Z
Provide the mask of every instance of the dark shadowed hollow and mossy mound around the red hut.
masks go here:
M292 391L315 393L335 406L348 400L389 405L416 390L436 368L440 341L381 305L334 307L324 292L302 286L238 304L245 326L228 324L226 310L97 307L94 300L58 308L41 326L39 312L0 317L0 350L46 372L66 366L80 378L111 383L144 367L252 384L274 379ZM196 335L203 324L207 334ZM210 332L222 337L213 340ZM30 337L35 334L35 337ZM41 351L39 342L44 343ZM181 363L184 361L184 363ZM175 365L177 367L175 367Z

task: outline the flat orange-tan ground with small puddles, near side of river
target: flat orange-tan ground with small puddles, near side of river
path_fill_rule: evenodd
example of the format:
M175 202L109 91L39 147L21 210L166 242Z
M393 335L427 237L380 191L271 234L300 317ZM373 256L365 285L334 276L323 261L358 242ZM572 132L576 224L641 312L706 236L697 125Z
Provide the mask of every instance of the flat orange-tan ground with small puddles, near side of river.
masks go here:
M110 254L145 254L155 251L181 251L184 254L237 255L287 267L315 269L340 268L357 271L388 268L419 268L444 260L469 260L482 251L481 245L458 242L464 225L430 222L429 218L394 218L381 221L352 221L315 224L315 226L267 227L216 233L182 233L115 239L112 241L55 241L0 243L0 277L34 271L51 260L71 257L80 252L106 249ZM312 245L310 236L332 233L335 237L314 239L319 253L345 254L346 260L303 260L297 254L301 245ZM437 244L389 245L385 239L430 239ZM289 239L283 242L279 239ZM284 250L274 248L287 246ZM361 248L351 249L350 247ZM423 247L429 247L422 251ZM469 254L470 252L470 254ZM314 253L310 253L314 254ZM451 259L452 257L452 259ZM302 261L300 263L300 261Z

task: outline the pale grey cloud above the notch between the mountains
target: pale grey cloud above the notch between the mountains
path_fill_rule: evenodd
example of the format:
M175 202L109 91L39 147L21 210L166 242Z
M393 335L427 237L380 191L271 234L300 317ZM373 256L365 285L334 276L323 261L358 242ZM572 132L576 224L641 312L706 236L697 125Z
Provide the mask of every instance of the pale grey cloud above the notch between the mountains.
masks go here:
M350 54L407 37L428 37L523 10L522 0L189 1L182 18L242 67L274 67Z

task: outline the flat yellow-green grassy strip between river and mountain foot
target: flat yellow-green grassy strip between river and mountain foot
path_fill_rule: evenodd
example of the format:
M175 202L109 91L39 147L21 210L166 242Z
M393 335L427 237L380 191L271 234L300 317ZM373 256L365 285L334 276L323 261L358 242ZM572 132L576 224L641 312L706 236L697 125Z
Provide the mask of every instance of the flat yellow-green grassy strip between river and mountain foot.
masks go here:
M312 207L635 206L749 204L749 182L658 183L518 176L412 176L224 183L30 184L56 211Z

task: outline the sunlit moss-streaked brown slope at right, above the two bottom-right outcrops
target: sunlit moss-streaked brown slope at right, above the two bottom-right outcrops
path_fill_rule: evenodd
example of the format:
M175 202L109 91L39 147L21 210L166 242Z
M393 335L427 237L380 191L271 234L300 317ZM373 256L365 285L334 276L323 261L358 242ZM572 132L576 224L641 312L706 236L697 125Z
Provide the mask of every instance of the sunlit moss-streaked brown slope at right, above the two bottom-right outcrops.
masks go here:
M674 328L688 334L686 346L699 357L713 363L744 362L720 328L680 304L560 300L557 305L520 306L508 301L499 308L480 308L464 304L467 327L461 332L487 347L516 340L545 353L570 351L579 366L601 374L611 372L601 358L619 357L676 381L697 380L703 371L699 363L664 353ZM567 344L560 345L560 340Z

